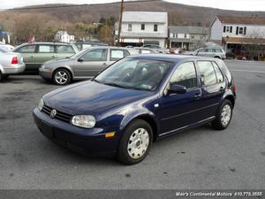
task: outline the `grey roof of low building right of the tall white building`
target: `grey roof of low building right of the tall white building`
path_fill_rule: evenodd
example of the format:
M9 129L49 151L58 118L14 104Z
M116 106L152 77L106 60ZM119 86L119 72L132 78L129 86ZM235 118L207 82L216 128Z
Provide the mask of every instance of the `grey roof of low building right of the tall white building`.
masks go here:
M208 27L181 27L181 26L170 26L170 33L179 34L208 34Z

